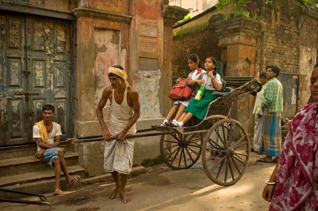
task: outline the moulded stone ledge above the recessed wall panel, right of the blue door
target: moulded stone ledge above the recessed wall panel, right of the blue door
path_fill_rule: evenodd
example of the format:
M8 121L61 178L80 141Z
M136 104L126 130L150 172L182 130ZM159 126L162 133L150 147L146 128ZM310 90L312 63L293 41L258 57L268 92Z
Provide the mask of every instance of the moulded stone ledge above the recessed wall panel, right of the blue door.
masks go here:
M112 12L105 12L102 10L93 10L89 8L75 8L72 13L76 18L80 16L85 16L85 17L94 17L94 18L101 18L101 19L106 19L106 20L112 20L112 21L119 21L119 22L125 22L125 23L130 23L132 16L128 15L121 15L117 13L112 13Z

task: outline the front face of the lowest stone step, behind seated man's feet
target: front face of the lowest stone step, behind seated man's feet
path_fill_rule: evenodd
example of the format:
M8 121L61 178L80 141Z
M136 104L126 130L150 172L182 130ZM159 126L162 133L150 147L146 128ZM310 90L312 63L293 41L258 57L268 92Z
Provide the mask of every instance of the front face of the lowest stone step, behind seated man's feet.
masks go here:
M69 191L69 190L72 190L73 188L81 186L81 176L77 174L72 174L72 176L78 179L72 187L70 187L66 183L64 177L61 177L60 189L62 191ZM53 195L54 185L55 185L55 179L49 179L49 180L45 179L45 180L31 181L31 182L27 182L27 183L15 185L15 186L12 186L12 185L2 186L2 188L17 190L17 191L24 191L29 193L37 193L37 194L52 193ZM20 198L26 198L26 197L29 197L29 196L0 191L0 198L4 198L4 199L20 199Z

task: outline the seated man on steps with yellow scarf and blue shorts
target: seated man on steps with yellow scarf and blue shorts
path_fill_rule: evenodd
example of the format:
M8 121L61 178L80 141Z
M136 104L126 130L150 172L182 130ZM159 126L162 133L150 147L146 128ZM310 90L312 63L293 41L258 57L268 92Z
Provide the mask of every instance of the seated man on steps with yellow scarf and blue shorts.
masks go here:
M42 107L43 120L34 123L33 139L38 145L38 152L35 154L35 158L47 162L54 168L54 195L58 195L62 193L59 184L61 170L65 175L67 184L70 186L77 181L77 178L73 178L67 173L66 162L64 159L64 153L66 153L66 150L59 147L60 136L62 135L61 126L52 122L54 110L53 105L46 104Z

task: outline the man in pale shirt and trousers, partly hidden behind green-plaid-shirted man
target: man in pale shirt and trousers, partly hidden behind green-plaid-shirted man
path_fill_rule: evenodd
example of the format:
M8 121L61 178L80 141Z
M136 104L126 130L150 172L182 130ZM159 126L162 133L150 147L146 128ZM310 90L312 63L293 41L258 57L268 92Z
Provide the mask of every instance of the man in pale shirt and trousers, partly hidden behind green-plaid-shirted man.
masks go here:
M255 105L253 109L253 114L255 114L255 127L254 127L254 139L253 139L253 148L251 151L259 152L259 147L262 145L263 141L263 132L262 132L262 116L263 111L261 103L264 99L264 91L267 87L267 78L266 72L261 72L259 74L259 81L262 83L262 90L257 93ZM262 153L262 152L259 152Z

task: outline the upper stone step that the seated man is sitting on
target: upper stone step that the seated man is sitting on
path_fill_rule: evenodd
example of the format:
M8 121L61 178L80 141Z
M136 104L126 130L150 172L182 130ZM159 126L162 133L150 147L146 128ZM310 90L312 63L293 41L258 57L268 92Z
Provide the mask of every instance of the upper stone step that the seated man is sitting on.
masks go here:
M66 166L78 164L78 154L66 152L64 154ZM50 165L42 160L36 159L34 155L0 160L0 178L16 174L25 174L52 169Z

